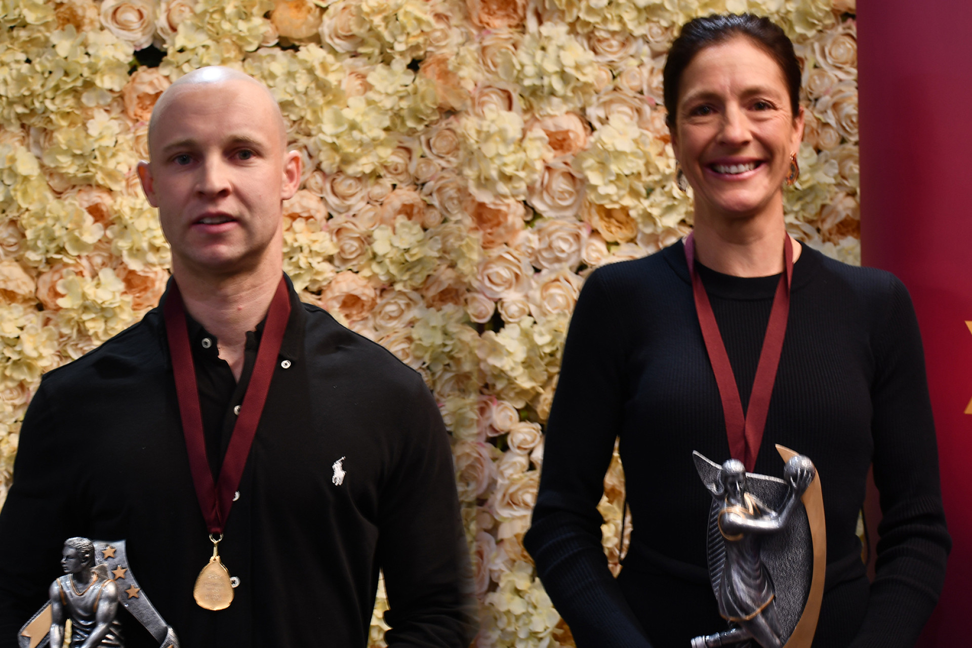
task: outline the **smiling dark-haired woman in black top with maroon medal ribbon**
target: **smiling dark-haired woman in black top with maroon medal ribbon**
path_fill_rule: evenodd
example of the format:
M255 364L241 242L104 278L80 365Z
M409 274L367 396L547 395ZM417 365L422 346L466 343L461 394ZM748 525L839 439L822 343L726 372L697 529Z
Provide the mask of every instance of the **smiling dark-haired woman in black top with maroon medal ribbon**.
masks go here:
M907 290L786 233L800 78L793 46L765 17L696 18L672 46L664 96L694 231L588 277L524 539L579 648L750 638L735 622L718 634L727 626L707 569L712 499L693 451L780 478L775 444L816 464L828 563L814 645L913 646L941 589L950 538ZM615 580L596 507L616 438L634 529ZM872 461L884 509L874 587L855 534ZM763 648L785 640L759 638Z

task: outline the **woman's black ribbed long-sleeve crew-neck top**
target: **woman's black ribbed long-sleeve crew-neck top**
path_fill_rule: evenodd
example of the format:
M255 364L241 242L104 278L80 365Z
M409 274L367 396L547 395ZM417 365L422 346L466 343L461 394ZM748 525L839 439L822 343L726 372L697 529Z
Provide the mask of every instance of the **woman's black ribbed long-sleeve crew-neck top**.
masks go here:
M779 275L700 273L745 408ZM634 521L618 580L596 508L615 437ZM803 248L755 472L782 476L777 443L814 460L823 491L828 564L814 645L914 645L951 540L918 323L892 275ZM693 450L730 457L677 243L592 273L568 333L525 544L580 648L684 648L725 630L706 567L712 497ZM855 529L872 462L884 520L869 584Z

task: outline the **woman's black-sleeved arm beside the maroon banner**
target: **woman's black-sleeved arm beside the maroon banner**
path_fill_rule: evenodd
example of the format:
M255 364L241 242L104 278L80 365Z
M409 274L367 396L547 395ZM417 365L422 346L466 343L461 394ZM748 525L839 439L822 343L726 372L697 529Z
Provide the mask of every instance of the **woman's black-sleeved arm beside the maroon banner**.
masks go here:
M872 343L874 479L884 519L877 575L853 648L915 645L938 601L951 548L918 321L900 281L890 279L889 293Z

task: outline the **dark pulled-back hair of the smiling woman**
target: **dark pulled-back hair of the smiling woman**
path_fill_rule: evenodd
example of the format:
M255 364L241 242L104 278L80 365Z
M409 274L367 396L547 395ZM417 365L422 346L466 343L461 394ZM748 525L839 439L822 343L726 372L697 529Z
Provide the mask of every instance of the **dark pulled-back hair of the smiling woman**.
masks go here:
M669 50L663 73L665 109L668 111L665 119L669 128L675 128L678 86L685 68L700 51L736 36L745 36L777 62L789 89L793 116L796 117L800 112L800 61L793 52L793 44L786 38L780 26L768 17L752 14L712 15L686 22Z

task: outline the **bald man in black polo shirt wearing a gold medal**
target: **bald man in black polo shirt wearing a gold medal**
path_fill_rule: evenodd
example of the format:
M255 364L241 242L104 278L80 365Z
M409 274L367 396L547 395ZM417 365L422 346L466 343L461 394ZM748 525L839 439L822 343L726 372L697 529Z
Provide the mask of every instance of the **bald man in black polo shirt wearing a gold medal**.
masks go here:
M172 280L31 402L0 512L0 648L17 646L71 536L127 540L184 648L364 647L379 570L390 646L465 648L448 435L417 373L284 275L300 157L272 95L196 70L159 98L149 133L138 174ZM122 622L126 646L157 646Z

